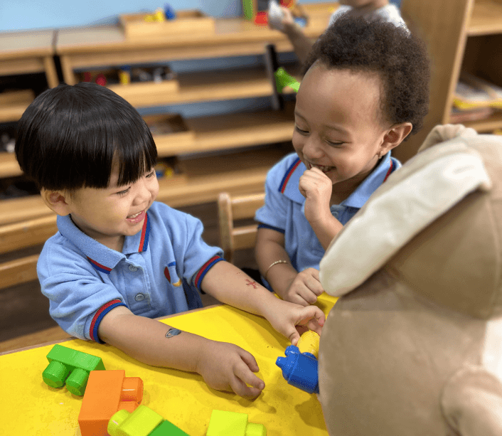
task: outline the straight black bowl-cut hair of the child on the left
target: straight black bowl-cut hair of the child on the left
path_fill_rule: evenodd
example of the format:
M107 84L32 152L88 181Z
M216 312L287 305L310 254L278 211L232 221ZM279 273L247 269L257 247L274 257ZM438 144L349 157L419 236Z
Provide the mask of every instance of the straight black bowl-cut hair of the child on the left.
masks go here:
M61 84L38 95L18 122L16 159L38 188L106 188L118 165L118 186L156 164L157 149L137 110L107 87Z

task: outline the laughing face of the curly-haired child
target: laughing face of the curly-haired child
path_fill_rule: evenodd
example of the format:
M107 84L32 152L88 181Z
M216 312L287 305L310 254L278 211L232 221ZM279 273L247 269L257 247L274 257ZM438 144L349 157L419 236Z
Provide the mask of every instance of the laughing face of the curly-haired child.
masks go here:
M377 74L329 70L316 62L297 94L293 146L307 169L316 167L336 188L355 188L388 151L390 122L380 110Z

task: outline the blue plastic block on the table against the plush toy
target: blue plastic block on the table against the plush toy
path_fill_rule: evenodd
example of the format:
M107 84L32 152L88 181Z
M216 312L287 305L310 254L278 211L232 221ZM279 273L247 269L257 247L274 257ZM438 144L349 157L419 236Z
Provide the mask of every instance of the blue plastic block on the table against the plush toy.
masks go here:
M284 351L286 357L278 357L275 364L282 369L282 376L292 386L308 393L319 393L317 359L311 353L300 353L297 346L290 345Z

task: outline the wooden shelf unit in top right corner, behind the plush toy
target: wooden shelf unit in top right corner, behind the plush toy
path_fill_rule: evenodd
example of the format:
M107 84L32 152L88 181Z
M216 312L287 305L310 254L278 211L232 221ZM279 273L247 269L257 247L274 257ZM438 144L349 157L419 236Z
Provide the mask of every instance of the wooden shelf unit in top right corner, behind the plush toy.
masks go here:
M402 0L402 16L431 57L429 114L424 128L393 154L407 161L437 124L448 124L462 70L502 86L502 0ZM465 122L479 133L502 128L502 115Z

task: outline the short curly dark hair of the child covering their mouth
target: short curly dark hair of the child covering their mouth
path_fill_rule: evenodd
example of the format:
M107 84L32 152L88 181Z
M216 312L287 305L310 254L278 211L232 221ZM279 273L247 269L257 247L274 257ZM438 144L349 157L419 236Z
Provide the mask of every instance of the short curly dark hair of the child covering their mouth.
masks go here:
M317 61L328 69L377 73L383 119L412 123L411 134L422 128L429 112L429 57L424 42L406 28L345 14L316 41L304 73Z

